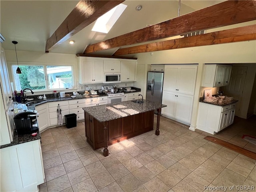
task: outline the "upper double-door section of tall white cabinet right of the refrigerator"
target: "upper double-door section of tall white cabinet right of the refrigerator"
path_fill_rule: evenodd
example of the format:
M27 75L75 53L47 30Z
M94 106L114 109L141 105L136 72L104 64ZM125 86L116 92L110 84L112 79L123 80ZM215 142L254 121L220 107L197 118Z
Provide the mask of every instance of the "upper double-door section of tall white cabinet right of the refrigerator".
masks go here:
M194 95L197 66L165 65L163 90Z

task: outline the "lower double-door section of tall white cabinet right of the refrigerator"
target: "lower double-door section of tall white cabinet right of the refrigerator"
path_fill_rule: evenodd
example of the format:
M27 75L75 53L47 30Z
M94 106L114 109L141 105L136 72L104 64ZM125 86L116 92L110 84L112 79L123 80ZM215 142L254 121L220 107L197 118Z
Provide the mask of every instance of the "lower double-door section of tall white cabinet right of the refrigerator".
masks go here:
M193 99L192 95L163 91L162 104L167 107L162 108L162 114L180 122L190 123Z

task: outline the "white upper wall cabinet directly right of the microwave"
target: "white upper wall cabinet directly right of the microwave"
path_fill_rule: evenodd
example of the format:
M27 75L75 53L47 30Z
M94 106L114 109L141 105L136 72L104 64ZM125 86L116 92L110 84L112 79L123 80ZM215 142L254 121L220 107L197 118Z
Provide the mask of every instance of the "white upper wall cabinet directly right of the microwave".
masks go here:
M121 81L135 81L136 70L137 67L135 61L121 61Z

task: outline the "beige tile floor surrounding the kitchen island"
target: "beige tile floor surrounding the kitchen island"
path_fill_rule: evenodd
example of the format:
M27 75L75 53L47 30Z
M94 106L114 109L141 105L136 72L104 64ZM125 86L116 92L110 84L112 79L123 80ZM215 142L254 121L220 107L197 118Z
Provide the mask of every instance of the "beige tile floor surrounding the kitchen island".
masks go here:
M161 117L160 135L154 132L109 146L106 158L103 149L94 151L87 144L84 122L42 132L46 182L40 192L206 192L213 187L223 187L218 191L256 187L256 160L204 140L206 135L167 118ZM227 131L216 137L236 142L239 134ZM232 186L234 190L229 189Z

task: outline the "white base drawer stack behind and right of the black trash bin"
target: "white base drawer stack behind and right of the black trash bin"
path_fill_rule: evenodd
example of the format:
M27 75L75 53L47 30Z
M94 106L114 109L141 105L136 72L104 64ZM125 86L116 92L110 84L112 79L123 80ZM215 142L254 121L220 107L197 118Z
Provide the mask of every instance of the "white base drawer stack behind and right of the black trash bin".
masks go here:
M86 99L69 100L69 113L76 114L76 120L84 119L83 107L86 107Z

